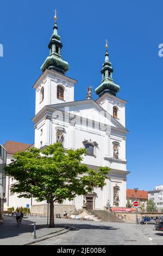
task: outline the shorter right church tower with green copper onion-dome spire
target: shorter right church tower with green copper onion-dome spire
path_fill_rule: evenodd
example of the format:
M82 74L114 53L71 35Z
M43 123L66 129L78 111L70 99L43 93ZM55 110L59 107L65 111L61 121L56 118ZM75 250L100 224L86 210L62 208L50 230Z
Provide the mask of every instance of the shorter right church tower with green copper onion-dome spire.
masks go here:
M102 82L95 89L99 96L96 102L125 127L125 105L127 101L116 96L120 91L120 86L115 84L112 79L113 69L111 62L109 62L108 40L106 40L105 48L105 61L101 70Z

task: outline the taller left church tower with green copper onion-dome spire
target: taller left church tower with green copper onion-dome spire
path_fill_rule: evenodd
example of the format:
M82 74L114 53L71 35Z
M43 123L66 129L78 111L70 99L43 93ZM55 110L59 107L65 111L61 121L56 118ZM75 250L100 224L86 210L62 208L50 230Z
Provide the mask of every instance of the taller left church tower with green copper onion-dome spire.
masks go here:
M70 68L61 57L62 43L58 35L55 10L53 34L48 44L49 56L41 66L42 75L34 84L36 91L35 114L47 105L74 101L76 80L65 76Z

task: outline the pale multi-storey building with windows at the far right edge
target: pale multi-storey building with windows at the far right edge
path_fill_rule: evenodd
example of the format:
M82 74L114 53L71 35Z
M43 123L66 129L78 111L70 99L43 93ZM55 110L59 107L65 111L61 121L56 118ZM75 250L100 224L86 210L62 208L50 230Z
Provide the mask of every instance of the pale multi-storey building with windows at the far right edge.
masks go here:
M148 200L154 201L159 212L163 211L163 185L155 186L154 190L148 191Z

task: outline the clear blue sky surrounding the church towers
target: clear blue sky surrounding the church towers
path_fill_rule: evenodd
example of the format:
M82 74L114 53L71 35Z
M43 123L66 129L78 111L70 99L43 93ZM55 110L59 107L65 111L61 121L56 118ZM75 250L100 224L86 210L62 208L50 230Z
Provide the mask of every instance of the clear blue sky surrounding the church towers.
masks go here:
M75 99L101 83L105 39L117 94L126 107L127 187L162 184L162 1L3 1L1 3L0 142L34 142L34 82L48 56L53 10L58 10L62 58L76 80ZM93 98L97 99L94 93Z

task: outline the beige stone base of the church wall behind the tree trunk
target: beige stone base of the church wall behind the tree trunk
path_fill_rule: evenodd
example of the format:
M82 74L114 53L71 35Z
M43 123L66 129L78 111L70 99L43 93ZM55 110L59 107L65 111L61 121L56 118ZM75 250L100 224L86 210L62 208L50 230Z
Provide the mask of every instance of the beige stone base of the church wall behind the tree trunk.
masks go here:
M50 210L50 207L49 207L49 210ZM66 211L71 215L71 212L73 212L74 210L76 210L75 205L55 204L54 217L56 217L57 214L60 214L60 217L63 218L64 211ZM47 204L32 205L30 208L30 212L32 214L42 214L43 217L47 217L48 205Z

